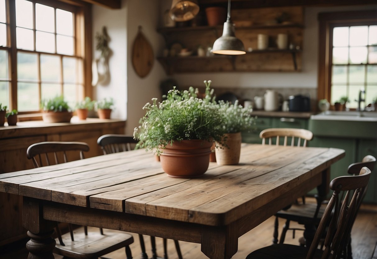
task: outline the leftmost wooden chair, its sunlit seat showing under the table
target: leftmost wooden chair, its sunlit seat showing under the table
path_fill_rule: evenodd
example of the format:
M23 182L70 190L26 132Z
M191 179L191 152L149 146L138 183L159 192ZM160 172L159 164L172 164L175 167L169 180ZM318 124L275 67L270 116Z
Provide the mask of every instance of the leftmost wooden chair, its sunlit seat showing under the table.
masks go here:
M72 160L84 159L84 152L87 151L89 145L84 142L40 142L29 146L26 156L33 160L37 168L66 163L69 157L73 157ZM58 237L55 239L54 253L64 258L94 259L125 247L127 259L132 259L129 245L133 243L133 237L130 234L104 233L101 228L88 233L86 226L74 230L71 224L68 224L68 228L69 233L63 235L58 224L55 228Z

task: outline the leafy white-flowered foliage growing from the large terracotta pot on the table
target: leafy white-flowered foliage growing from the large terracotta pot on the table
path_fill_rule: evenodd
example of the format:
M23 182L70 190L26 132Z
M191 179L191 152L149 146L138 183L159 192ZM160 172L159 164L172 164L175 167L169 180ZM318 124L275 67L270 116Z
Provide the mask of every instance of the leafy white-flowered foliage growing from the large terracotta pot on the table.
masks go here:
M198 89L170 90L166 100L144 105L146 114L141 118L141 126L135 128L133 136L139 140L137 147L161 153L167 145L181 140L213 140L221 142L224 133L219 105L210 89L211 81L204 81L205 97L198 98ZM164 96L165 97L165 96Z

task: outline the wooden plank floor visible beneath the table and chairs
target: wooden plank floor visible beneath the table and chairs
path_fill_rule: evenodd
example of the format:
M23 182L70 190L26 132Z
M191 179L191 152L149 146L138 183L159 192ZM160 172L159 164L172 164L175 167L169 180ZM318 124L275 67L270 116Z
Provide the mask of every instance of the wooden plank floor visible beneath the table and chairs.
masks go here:
M284 221L280 221L279 229L281 230ZM248 253L258 248L270 245L272 243L272 233L274 226L274 217L269 218L261 225L244 234L238 239L238 252L232 257L233 259L244 259ZM291 224L293 227L293 224ZM107 230L109 231L109 230ZM280 233L280 231L279 231ZM133 258L140 258L140 245L137 234L133 234L135 242L131 245ZM287 244L298 244L302 232L296 232L296 237L292 238L292 233L288 232L285 239ZM150 241L148 236L144 236L146 242L147 254L152 256L150 251ZM354 227L352 228L352 255L354 259L377 259L377 205L363 205L360 208ZM187 259L205 259L199 244L179 241L183 258ZM158 247L157 254L163 256L162 239L156 239ZM169 259L177 259L174 242L168 240ZM112 259L124 259L124 249L114 251L104 256ZM24 244L11 248L0 247L0 259L21 259L27 258L27 251ZM60 258L60 257L56 257Z

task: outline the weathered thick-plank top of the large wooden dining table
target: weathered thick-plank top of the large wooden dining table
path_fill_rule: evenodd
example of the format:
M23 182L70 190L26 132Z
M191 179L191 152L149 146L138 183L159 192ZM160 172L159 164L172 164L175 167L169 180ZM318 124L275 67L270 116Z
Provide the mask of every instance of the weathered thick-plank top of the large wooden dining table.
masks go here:
M1 174L0 191L117 215L233 225L239 237L312 188L328 190L328 168L343 156L336 148L242 144L238 165L210 163L203 176L178 179L167 176L152 153L134 150ZM255 213L260 219L245 223ZM179 240L200 243L194 239Z

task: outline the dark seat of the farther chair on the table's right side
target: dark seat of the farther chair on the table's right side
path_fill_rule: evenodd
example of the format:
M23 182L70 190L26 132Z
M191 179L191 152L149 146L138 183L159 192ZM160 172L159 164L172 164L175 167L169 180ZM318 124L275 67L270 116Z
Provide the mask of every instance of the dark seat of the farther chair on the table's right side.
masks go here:
M319 208L317 218L314 219L314 213L317 209L316 203L307 203L307 204L292 204L288 210L280 210L276 213L277 217L283 219L289 219L296 221L299 224L319 224L319 221L325 211L326 204L322 204Z

